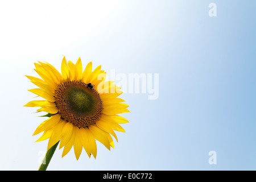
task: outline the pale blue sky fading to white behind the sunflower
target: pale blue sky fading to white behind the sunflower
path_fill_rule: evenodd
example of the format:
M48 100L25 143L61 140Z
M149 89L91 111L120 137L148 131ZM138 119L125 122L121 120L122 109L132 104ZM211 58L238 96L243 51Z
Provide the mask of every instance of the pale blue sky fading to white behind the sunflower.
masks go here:
M208 15L209 3L217 17ZM44 121L23 107L35 61L62 55L115 73L159 73L159 98L122 94L130 123L96 160L56 150L48 170L255 170L256 2L0 1L0 169L37 170ZM217 164L208 163L209 151Z

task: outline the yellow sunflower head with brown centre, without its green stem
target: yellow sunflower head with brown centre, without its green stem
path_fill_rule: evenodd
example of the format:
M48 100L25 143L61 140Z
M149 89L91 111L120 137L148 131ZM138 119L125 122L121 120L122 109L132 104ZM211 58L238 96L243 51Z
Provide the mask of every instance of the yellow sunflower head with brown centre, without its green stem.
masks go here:
M33 135L42 133L36 142L48 140L47 150L56 143L63 148L62 157L72 146L78 160L82 148L96 158L96 140L110 150L114 148L114 131L125 132L119 123L127 123L121 113L130 112L121 98L121 88L114 81L105 81L106 72L101 65L92 71L92 62L82 71L81 59L76 64L63 57L61 73L49 63L35 63L35 71L42 78L26 76L39 88L28 91L45 100L30 101L24 106L40 107L49 117L42 122ZM111 134L111 135L110 135Z

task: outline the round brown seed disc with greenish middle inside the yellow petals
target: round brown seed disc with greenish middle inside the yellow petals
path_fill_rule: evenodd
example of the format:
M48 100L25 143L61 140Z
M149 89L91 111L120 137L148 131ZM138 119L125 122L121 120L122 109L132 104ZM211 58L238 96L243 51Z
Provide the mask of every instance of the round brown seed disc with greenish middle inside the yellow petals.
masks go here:
M102 101L89 84L79 81L61 83L55 98L61 118L74 126L88 127L100 119Z

